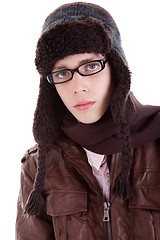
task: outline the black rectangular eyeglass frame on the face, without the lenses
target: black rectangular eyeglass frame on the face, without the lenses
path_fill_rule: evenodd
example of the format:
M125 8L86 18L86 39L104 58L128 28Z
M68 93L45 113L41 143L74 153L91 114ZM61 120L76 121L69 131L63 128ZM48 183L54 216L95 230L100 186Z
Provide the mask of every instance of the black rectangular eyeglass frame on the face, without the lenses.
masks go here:
M102 66L101 70L99 70L98 72L95 72L95 73L87 74L87 75L79 72L79 68L80 68L81 66L83 66L83 65L85 65L85 64L88 64L88 63L92 63L92 62L100 62L101 66ZM46 78L47 78L47 81L48 81L50 84L54 84L54 85L56 85L56 84L62 84L62 83L69 82L70 80L72 80L73 75L74 75L75 72L78 72L81 76L85 76L85 77L91 76L91 75L95 75L95 74L101 72L101 71L105 68L105 65L106 65L107 62L108 62L108 59L106 59L106 60L93 60L93 61L90 61L90 62L83 63L83 64L81 64L80 66L78 66L78 67L75 68L75 69L63 69L63 70L51 72L50 74L48 74L48 75L46 76ZM60 72L60 71L70 71L71 74L72 74L72 76L71 76L68 80L66 80L66 81L55 83L54 80L53 80L53 75L52 75L52 74L53 74L53 73Z

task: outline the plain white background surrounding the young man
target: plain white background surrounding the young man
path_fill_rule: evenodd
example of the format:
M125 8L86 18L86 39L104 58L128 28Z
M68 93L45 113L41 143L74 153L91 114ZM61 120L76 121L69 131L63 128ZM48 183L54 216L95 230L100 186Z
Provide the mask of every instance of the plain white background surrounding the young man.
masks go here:
M32 121L39 75L34 66L41 26L68 1L1 1L0 6L0 238L12 240L20 160L34 145ZM91 1L97 3L97 1ZM119 27L132 90L144 104L160 105L160 7L152 0L99 0Z

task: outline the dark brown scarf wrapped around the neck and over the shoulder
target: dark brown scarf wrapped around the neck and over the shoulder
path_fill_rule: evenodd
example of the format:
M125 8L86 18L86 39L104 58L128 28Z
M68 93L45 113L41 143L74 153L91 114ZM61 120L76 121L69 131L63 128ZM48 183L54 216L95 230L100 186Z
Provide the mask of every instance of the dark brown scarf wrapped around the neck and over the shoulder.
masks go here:
M160 137L160 106L142 105L133 96L136 116L130 124L132 148ZM120 127L113 122L110 109L97 122L83 124L67 112L63 132L86 149L99 154L121 151Z

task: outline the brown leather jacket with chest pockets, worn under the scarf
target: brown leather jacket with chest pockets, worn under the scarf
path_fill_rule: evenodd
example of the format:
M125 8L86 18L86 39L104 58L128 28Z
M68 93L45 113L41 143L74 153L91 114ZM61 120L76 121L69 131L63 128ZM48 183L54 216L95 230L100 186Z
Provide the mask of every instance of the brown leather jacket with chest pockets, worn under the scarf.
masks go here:
M111 194L110 216L84 150L65 141L61 147L48 148L41 213L28 217L24 206L33 187L36 165L37 146L22 159L16 240L160 239L159 140L134 150L130 173L133 197L126 202ZM111 161L111 189L120 166L118 153Z

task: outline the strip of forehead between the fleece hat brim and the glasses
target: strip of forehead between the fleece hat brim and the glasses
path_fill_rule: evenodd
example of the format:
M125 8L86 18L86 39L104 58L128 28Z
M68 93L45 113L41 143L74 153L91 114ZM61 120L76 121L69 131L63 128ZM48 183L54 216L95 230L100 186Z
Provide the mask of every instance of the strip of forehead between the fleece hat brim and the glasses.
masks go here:
M77 66L93 61L104 59L104 56L100 53L80 53L67 56L62 60L55 63L53 70L64 69L64 68L76 68Z

